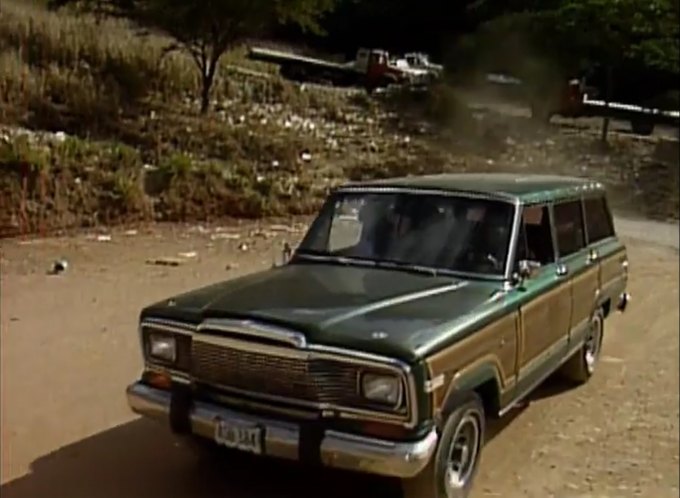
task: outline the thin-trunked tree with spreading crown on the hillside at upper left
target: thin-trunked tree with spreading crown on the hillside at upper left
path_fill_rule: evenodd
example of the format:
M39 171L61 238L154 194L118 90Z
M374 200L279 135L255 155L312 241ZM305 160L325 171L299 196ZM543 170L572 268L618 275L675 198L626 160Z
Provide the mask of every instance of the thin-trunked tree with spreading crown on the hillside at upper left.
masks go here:
M279 23L320 31L319 17L335 0L50 0L53 8L77 4L171 36L168 50L187 52L196 63L201 112L208 111L220 58L235 45L259 36Z

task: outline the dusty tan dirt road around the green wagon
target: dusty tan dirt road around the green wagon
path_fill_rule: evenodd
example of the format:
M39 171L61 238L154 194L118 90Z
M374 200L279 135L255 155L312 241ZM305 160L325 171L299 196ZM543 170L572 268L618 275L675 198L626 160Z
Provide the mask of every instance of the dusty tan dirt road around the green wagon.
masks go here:
M548 382L527 408L492 427L476 497L678 495L677 228L624 226L629 235L643 232L627 238L633 301L606 324L599 371L579 389ZM282 239L295 237L265 239L251 229L235 228L238 240L166 227L114 232L109 242L83 235L2 242L4 498L384 494L389 483L379 479L278 462L200 466L165 427L129 412L124 389L141 368L140 307L264 268ZM145 264L183 251L197 257L178 267ZM67 271L46 275L59 257Z

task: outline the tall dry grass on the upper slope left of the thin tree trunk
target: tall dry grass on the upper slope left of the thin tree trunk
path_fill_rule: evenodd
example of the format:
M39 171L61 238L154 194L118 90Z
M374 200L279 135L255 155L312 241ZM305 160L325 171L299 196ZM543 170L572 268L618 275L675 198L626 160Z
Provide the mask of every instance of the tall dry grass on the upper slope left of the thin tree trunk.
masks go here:
M121 21L9 2L0 17L0 92L11 107L50 103L79 115L194 92L191 61L163 56L165 43L140 38Z

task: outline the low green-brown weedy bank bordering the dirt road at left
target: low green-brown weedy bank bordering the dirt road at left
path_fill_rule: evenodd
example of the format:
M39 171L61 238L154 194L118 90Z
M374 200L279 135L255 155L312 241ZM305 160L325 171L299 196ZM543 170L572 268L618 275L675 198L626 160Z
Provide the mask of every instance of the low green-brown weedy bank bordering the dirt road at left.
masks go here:
M170 154L156 167L105 142L0 142L0 236L137 221L309 214L325 192L295 166L276 170Z

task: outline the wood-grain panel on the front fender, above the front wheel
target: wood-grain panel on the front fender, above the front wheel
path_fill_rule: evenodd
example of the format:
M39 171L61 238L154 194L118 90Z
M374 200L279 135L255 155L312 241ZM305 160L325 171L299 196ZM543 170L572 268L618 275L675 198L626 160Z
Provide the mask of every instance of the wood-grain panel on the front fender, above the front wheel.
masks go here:
M517 330L518 313L513 312L427 358L430 378L444 376L443 386L433 393L433 408L441 407L454 375L474 372L485 364L497 369L502 391L511 388L517 366Z

